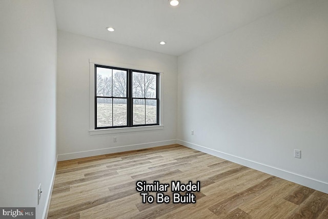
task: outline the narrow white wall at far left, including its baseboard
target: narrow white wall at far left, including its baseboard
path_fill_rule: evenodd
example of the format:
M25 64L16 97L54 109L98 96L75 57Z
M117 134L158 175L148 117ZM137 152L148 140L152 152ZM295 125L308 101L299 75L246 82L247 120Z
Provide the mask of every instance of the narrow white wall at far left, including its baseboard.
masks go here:
M56 163L53 2L0 1L0 29L0 206L36 207L42 218Z

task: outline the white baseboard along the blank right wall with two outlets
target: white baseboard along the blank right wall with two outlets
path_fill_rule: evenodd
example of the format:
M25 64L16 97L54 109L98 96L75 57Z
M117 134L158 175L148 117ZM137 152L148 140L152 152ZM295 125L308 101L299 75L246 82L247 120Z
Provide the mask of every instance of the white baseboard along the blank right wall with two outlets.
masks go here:
M300 184L302 186L306 186L324 193L328 193L328 183L315 180L314 178L306 177L303 175L299 175L297 173L289 172L286 170L282 170L276 167L268 166L265 164L261 164L255 161L251 161L242 157L238 157L232 154L220 152L211 148L203 147L200 145L196 145L190 142L185 142L182 140L177 140L177 144L207 153L211 154L213 156L217 156L220 158L223 158L224 160L231 161L237 164L240 164L242 166L246 166L255 170L259 170L261 172L268 173L270 175L274 175L280 178L283 178L284 180L288 180L297 184Z

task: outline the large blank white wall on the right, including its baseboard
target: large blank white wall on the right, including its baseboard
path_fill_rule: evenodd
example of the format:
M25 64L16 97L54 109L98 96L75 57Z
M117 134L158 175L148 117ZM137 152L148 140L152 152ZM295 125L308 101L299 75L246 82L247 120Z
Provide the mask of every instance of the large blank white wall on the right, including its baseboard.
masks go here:
M328 192L327 12L299 1L179 56L178 142Z

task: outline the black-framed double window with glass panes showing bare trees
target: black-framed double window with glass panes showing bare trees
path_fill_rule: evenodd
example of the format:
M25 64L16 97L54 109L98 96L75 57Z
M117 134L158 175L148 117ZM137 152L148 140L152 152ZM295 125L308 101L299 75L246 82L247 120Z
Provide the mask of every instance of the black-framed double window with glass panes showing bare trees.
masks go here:
M94 65L94 128L159 125L159 73Z

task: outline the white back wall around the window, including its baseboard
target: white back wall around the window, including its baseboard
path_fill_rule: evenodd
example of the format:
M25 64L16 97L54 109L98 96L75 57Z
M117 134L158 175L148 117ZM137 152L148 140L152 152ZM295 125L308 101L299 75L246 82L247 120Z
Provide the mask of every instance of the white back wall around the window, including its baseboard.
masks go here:
M163 70L164 129L90 135L89 58ZM58 31L57 145L59 160L175 143L177 133L176 71L176 56ZM117 143L113 143L113 136L117 137Z

